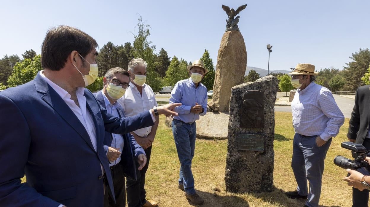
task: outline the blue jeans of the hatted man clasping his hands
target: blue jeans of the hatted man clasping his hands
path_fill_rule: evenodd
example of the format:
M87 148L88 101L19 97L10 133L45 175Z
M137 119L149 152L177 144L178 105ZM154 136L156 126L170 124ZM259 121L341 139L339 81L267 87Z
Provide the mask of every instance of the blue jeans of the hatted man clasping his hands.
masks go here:
M195 150L195 122L189 124L174 119L172 120L172 133L181 165L179 184L184 185L186 194L195 194L194 177L191 172L191 161Z

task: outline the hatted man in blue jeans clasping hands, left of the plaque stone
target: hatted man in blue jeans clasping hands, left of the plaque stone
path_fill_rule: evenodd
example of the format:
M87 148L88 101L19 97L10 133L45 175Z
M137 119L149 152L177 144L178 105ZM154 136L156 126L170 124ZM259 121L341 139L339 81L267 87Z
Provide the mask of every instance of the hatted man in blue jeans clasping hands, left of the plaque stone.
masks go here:
M188 66L188 70L190 78L178 81L169 99L169 103L182 103L175 108L178 116L173 117L172 133L181 164L179 188L185 191L186 198L192 203L202 204L203 198L199 197L194 189L191 162L195 150L195 121L207 111L207 88L200 81L208 70L201 60L195 60Z

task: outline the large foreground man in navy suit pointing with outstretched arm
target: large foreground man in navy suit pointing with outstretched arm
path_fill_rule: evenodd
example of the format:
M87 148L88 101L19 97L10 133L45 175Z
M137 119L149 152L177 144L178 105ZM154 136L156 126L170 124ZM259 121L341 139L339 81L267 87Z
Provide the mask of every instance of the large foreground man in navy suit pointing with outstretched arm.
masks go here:
M53 28L41 47L44 70L0 92L0 206L103 206L104 191L114 193L105 131L125 134L153 125L155 115L176 115L174 104L134 117L107 113L84 88L97 77L97 46L81 30Z

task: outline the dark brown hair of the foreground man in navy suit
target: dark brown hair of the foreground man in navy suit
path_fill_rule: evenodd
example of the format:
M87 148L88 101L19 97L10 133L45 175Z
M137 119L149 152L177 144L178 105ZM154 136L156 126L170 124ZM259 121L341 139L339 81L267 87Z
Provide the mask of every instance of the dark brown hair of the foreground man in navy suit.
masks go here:
M72 51L76 50L85 58L96 47L95 39L79 29L66 25L54 27L46 33L41 46L41 66L60 70ZM85 61L82 62L85 66Z

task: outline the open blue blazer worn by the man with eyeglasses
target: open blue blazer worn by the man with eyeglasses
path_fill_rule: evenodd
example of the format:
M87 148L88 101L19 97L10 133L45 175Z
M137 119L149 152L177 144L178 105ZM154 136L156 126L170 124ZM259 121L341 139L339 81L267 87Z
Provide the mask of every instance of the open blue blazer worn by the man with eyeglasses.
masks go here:
M103 91L98 91L94 93L94 96L98 100L100 106L105 108L105 101L102 92ZM118 104L117 111L120 118L126 117L120 104ZM122 137L124 145L121 154L121 161L118 164L123 167L123 172L126 177L131 180L137 180L139 170L137 170L137 161L135 161L134 157L137 158L139 154L145 154L144 149L136 142L132 134L122 134ZM106 131L105 139L103 141L104 145L111 146L112 140L112 134Z

